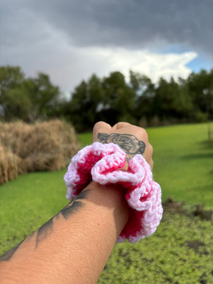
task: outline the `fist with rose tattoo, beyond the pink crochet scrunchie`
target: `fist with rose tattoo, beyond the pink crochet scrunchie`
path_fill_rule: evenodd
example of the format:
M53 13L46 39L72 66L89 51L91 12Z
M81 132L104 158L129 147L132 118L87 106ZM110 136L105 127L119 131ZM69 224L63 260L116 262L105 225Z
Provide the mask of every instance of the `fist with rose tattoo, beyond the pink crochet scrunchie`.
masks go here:
M153 168L153 147L148 142L145 129L127 122L118 122L113 127L103 121L97 122L93 127L93 142L115 143L126 152L129 161L136 154L141 154L146 162Z

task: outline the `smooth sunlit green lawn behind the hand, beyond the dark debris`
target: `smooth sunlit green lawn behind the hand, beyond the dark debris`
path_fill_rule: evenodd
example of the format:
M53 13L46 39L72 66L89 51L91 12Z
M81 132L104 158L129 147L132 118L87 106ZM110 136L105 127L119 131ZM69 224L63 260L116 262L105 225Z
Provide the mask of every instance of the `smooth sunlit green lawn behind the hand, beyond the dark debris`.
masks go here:
M154 179L161 185L163 200L173 196L188 204L213 207L213 143L208 124L186 124L146 129L153 145ZM92 134L80 136L83 146ZM211 171L212 170L212 171Z

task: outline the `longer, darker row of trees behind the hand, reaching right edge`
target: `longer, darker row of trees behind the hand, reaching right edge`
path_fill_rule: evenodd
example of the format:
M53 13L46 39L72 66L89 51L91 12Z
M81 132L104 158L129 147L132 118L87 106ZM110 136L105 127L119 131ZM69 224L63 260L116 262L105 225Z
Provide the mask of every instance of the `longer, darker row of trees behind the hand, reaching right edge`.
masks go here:
M76 86L58 114L71 121L78 132L92 129L99 120L143 127L211 121L212 81L213 69L191 73L186 79L160 78L157 83L134 71L130 71L129 80L120 72L103 78L94 74Z

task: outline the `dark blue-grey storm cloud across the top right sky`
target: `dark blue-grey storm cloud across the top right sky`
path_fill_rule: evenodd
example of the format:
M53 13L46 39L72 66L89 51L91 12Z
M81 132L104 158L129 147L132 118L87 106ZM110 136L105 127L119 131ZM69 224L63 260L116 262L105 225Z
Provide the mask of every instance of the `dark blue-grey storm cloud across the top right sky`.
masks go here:
M66 32L76 46L148 48L162 41L212 55L212 0L37 0L25 5Z

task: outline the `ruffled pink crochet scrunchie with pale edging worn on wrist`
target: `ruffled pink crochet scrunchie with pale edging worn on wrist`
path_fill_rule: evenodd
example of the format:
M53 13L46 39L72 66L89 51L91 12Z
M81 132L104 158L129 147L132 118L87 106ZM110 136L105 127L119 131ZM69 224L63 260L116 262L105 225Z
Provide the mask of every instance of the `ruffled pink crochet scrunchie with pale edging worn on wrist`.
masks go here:
M136 243L153 234L160 223L161 188L153 180L151 167L142 155L137 154L129 161L127 171L120 170L125 161L126 154L117 144L95 142L84 147L72 158L65 174L66 197L72 201L91 180L101 185L122 185L131 209L117 242L127 239Z

